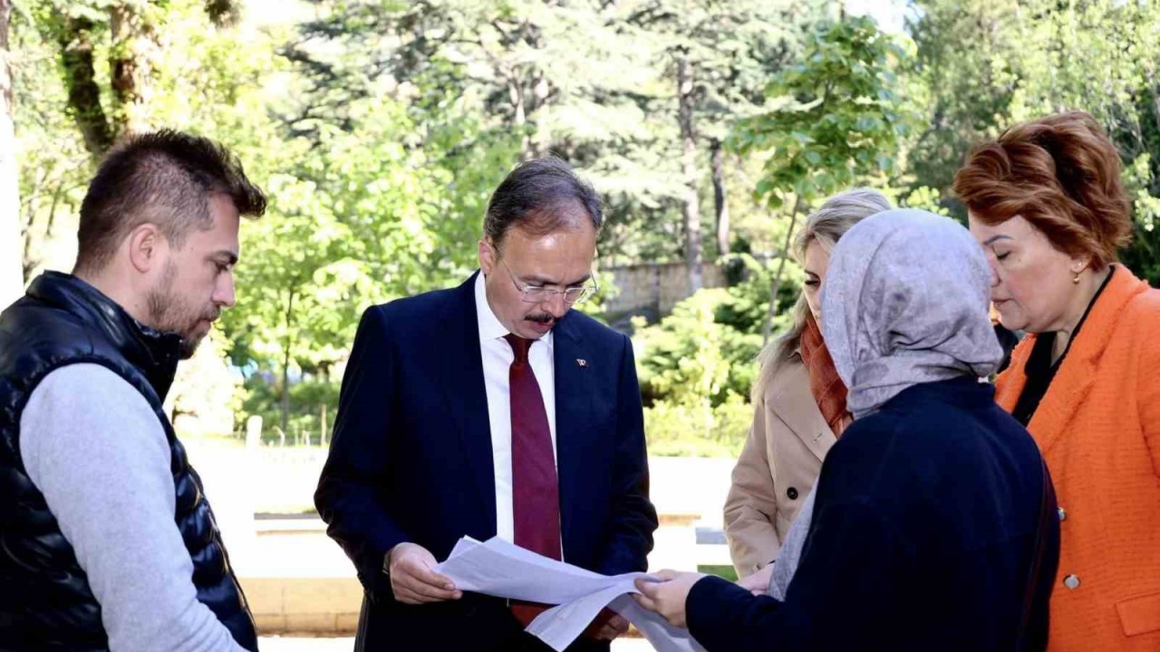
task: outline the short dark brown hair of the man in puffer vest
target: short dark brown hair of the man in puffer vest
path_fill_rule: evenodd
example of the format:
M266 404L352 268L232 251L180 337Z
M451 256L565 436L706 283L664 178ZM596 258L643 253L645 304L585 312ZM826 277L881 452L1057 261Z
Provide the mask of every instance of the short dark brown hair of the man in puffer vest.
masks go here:
M101 161L80 205L75 271L100 271L122 239L152 223L180 247L213 226L210 197L226 195L239 215L266 212L266 195L229 150L209 138L164 129L130 136Z

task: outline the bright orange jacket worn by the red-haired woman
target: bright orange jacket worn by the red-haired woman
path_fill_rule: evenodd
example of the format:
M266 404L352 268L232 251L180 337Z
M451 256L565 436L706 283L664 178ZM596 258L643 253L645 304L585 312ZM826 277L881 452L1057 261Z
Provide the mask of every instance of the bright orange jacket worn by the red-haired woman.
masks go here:
M999 376L1008 411L1034 346ZM1049 650L1160 651L1160 291L1117 266L1028 429L1063 519Z

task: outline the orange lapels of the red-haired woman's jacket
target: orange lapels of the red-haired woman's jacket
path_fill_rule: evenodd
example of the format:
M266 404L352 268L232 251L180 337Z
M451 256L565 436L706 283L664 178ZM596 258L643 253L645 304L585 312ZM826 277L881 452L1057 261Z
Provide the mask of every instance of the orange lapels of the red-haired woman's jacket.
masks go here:
M1095 381L1100 357L1108 348L1116 320L1129 300L1147 289L1147 284L1138 280L1123 266L1116 270L1103 289L1100 298L1088 312L1079 335L1071 345L1067 356L1056 371L1047 392L1036 408L1031 422L1028 423L1039 449L1046 452L1070 428L1075 411ZM1023 387L1027 385L1027 360L1030 357L1034 338L1021 345L1017 368L1013 368L1012 382L1003 383L1001 397L996 397L1006 410L1014 410ZM1013 365L1014 367L1014 365Z

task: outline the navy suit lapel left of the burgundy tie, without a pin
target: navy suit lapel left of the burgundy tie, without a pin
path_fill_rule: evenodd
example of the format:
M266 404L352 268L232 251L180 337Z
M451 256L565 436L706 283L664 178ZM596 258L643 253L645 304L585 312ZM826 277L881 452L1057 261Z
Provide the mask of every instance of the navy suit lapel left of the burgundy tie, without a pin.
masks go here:
M492 458L491 421L487 415L487 387L484 383L484 358L479 347L479 323L476 316L476 276L456 288L455 297L443 310L443 336L438 367L449 382L443 383L448 411L471 466L493 531L495 528L495 471Z

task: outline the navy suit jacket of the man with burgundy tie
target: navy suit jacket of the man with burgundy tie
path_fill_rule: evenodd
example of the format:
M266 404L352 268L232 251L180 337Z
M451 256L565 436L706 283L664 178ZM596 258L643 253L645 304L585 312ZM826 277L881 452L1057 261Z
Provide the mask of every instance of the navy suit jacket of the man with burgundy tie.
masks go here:
M399 603L383 573L396 544L444 559L464 535L495 535L474 280L372 306L355 335L314 501L365 588L360 649L412 649L412 632L416 650L487 650L515 622L502 601L473 594ZM577 311L553 333L564 560L644 571L657 513L631 342Z

